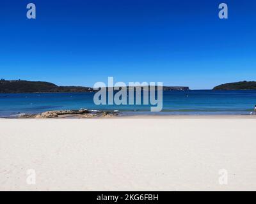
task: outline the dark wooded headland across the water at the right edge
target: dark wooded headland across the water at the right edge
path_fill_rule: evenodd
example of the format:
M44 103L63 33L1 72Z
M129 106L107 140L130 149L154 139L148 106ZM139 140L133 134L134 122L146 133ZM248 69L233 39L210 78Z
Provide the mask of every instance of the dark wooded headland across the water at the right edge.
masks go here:
M256 82L234 82L221 84L213 88L213 90L256 90Z

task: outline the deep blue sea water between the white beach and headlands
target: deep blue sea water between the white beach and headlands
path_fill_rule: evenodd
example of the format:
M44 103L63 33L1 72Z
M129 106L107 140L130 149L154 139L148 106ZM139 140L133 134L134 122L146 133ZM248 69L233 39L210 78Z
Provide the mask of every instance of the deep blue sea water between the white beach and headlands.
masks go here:
M164 91L161 112L150 112L148 105L98 106L93 92L0 94L0 117L79 108L118 110L122 115L241 115L250 114L254 105L256 91Z

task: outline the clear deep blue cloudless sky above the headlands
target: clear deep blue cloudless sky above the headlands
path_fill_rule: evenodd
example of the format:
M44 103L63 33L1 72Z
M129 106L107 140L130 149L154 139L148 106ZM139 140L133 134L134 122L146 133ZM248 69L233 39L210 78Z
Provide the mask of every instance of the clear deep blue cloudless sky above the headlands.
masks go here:
M0 22L0 78L191 89L256 80L255 0L2 0Z

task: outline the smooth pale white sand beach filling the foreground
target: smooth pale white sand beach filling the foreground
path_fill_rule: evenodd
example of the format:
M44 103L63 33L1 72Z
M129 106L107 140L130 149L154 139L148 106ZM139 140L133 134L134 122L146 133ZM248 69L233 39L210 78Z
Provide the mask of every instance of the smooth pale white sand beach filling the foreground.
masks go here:
M1 191L256 190L253 116L0 119L0 129Z

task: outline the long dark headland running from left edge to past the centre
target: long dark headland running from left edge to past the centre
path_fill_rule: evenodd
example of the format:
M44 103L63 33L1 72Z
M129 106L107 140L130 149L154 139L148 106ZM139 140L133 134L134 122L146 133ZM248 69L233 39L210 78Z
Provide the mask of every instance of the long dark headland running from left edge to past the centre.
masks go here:
M189 87L163 87L163 91L185 91ZM49 82L31 82L25 80L0 80L0 93L24 92L92 92L91 87L58 86Z

